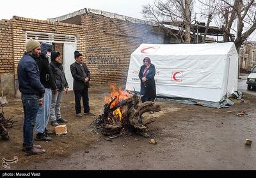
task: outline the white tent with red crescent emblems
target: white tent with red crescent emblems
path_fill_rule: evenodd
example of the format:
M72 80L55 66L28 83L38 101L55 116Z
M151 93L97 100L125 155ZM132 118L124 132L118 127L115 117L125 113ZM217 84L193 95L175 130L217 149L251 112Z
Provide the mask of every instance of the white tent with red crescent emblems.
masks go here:
M238 55L234 43L141 44L132 54L125 89L140 91L144 57L156 66L156 94L218 102L237 91Z

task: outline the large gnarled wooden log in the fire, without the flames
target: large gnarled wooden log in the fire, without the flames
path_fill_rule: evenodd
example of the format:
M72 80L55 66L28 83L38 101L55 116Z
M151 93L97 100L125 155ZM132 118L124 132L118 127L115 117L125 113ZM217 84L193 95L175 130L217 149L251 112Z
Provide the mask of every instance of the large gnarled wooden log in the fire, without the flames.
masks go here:
M150 119L150 121L143 124L142 115L145 112L159 112L161 110L159 104L152 101L141 103L140 97L134 94L131 98L121 100L115 107L110 108L111 103L115 99L105 105L104 114L97 118L97 123L101 124L101 128L103 129L102 133L104 135L115 135L124 129L132 129L136 133L148 137L148 128L146 125L155 120ZM122 110L122 121L116 119L116 116L113 114L117 108Z

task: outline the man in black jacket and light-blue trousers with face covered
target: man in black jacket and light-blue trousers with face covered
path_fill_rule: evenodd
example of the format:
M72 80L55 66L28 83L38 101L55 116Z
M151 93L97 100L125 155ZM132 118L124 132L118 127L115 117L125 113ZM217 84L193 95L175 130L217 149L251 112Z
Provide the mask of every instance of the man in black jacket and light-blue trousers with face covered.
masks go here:
M38 141L51 141L52 138L48 135L53 134L46 129L50 118L50 109L52 101L52 92L56 93L57 87L54 81L52 70L49 63L53 45L49 43L41 44L41 55L38 60L38 68L40 71L40 81L45 87L44 98L42 98L42 105L39 107L36 114L36 138Z

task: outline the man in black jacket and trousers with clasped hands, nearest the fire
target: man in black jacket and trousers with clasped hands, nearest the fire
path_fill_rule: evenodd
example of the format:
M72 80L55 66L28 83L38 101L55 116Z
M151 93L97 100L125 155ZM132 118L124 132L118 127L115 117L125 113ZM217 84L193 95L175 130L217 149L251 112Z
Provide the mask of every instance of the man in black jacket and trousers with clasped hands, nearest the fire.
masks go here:
M76 62L70 65L70 71L74 78L73 89L75 93L76 117L82 117L81 98L83 98L84 115L94 115L90 112L88 87L90 87L90 71L83 63L83 55L78 51L74 52Z

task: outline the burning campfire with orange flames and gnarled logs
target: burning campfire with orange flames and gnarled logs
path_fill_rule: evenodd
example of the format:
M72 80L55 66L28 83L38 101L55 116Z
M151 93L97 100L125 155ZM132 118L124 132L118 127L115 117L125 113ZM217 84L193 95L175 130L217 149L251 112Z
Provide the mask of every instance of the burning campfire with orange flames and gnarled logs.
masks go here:
M123 91L121 87L116 89L116 84L111 84L109 96L104 98L105 105L103 114L96 119L98 128L102 129L103 135L115 135L125 131L149 137L147 124L156 121L142 116L145 112L159 112L161 110L157 103L147 101L141 103L137 94Z

